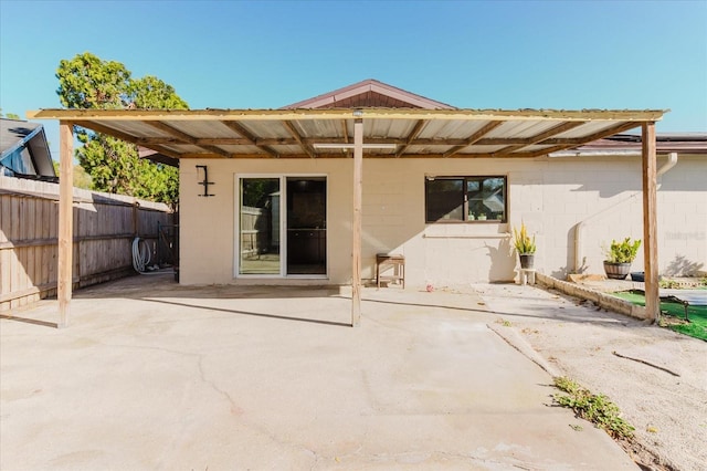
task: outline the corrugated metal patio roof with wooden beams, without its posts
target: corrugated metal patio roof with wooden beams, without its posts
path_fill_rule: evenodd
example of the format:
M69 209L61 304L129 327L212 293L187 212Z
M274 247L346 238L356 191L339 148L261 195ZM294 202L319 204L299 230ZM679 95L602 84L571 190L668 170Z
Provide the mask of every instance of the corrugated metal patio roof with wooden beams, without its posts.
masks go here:
M663 114L658 109L42 109L29 116L72 122L172 158L347 157L350 153L314 145L351 144L358 117L363 121L365 143L395 145L367 149L367 156L528 158L623 133Z

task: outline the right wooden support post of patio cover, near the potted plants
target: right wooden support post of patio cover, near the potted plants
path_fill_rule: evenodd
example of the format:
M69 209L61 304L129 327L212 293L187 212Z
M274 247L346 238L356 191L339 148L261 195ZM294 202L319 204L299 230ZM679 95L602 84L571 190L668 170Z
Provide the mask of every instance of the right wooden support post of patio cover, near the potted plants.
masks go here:
M658 294L657 161L655 147L655 123L644 123L642 132L645 310L647 318L657 322L661 315L661 297Z

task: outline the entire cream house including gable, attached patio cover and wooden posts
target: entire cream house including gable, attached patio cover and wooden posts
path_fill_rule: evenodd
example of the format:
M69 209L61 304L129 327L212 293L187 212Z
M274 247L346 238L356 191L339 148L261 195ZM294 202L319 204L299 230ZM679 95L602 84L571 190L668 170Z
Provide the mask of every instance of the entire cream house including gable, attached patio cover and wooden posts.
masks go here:
M357 325L377 254L404 257L408 286L510 281L521 222L538 271L559 278L600 273L612 239L644 239L634 270L645 264L655 317L658 272L700 270L706 258L704 136L658 149L663 114L457 109L368 80L281 109L28 115L60 119L67 172L72 125L179 161L180 283L350 283ZM636 128L642 143L585 147ZM62 201L60 239L71 240ZM70 251L59 265L71 280ZM71 289L59 291L65 320Z

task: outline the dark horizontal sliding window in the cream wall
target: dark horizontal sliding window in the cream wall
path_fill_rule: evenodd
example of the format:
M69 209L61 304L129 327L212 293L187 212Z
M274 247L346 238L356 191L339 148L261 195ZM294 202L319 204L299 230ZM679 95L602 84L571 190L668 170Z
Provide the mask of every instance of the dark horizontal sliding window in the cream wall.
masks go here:
M426 177L425 221L506 222L506 177Z

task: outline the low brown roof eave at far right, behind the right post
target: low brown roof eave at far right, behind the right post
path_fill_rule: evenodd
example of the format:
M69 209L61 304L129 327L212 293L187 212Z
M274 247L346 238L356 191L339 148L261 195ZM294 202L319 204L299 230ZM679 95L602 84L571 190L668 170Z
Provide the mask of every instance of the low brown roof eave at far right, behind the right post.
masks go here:
M588 143L571 150L553 154L560 156L590 156L600 154L640 154L643 138L636 134L616 134ZM707 133L661 133L655 136L658 154L678 153L707 155Z

